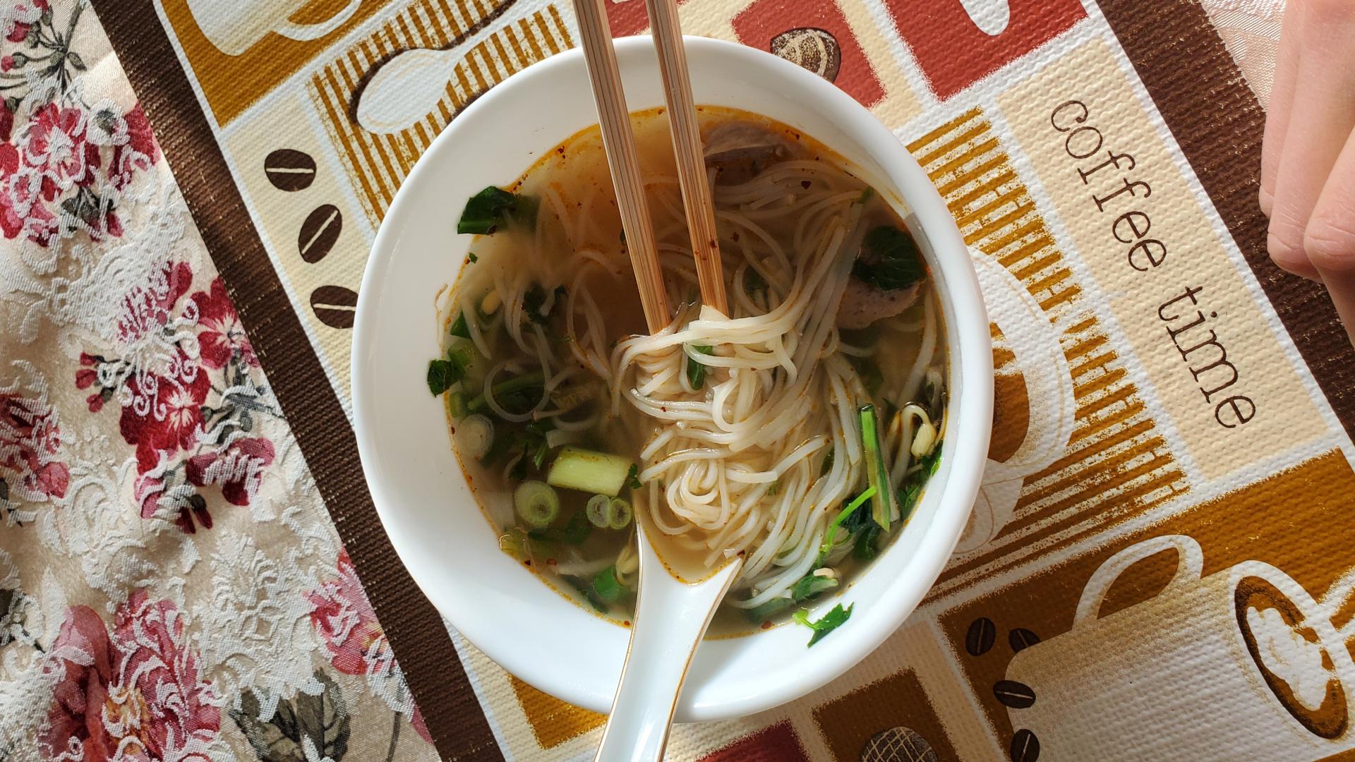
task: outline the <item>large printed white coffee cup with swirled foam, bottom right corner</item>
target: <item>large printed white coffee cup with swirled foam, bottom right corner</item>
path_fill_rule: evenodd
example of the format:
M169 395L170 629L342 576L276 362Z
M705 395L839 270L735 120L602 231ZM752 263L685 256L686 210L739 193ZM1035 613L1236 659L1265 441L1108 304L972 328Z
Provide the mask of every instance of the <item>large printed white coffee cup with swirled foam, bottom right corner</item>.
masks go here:
M1102 616L1134 563L1176 550L1167 587ZM1355 664L1332 614L1351 579L1322 602L1282 569L1243 561L1201 576L1190 537L1153 537L1092 574L1072 629L1016 654L1007 678L1034 694L1009 706L1056 759L1316 759L1355 747Z

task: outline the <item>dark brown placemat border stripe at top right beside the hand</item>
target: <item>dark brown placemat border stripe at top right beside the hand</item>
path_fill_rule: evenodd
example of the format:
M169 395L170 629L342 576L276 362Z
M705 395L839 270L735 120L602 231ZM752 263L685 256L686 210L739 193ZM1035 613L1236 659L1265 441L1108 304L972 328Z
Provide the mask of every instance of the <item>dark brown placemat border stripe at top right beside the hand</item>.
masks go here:
M1346 433L1355 350L1327 292L1275 267L1256 201L1266 114L1195 0L1098 0Z

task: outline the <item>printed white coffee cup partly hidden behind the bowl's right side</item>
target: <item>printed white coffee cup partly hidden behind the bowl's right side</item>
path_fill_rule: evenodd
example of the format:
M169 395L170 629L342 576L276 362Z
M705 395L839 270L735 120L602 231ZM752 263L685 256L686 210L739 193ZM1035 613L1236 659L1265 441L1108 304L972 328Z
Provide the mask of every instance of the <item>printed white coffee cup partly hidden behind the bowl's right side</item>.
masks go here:
M1028 407L1028 424L1015 452L1000 461L989 458L957 553L981 548L1007 526L1026 477L1064 456L1077 411L1073 376L1058 343L1058 329L1026 286L996 259L977 251L970 258L986 297L988 319L1001 329L1024 384L1026 399L1016 403Z

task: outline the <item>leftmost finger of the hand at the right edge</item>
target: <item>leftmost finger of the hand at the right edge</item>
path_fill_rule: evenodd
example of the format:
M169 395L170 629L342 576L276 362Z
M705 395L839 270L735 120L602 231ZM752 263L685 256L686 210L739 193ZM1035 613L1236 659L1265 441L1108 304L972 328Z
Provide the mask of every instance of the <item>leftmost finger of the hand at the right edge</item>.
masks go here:
M1280 267L1317 277L1304 251L1304 229L1332 165L1355 127L1355 3L1306 0L1304 50L1275 178L1270 254Z

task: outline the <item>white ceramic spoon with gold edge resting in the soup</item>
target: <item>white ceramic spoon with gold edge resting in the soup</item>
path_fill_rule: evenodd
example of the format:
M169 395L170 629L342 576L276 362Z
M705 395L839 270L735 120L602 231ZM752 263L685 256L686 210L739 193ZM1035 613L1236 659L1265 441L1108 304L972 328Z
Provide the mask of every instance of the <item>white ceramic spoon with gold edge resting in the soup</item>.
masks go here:
M638 518L638 517L637 517ZM706 579L687 584L654 553L638 527L640 593L626 666L602 735L596 762L663 759L668 728L696 645L744 560L734 559Z

